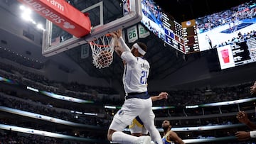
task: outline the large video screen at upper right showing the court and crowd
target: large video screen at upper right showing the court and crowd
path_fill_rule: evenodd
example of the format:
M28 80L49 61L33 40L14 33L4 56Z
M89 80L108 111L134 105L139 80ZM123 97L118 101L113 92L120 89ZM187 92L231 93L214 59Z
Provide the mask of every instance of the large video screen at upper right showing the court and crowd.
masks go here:
M196 18L200 51L222 47L250 37L256 30L255 1Z

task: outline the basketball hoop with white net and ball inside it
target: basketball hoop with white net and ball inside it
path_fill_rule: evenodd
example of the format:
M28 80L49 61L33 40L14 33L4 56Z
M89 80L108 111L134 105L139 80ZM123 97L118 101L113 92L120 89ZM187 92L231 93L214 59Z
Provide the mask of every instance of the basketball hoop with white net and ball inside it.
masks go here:
M114 40L110 34L89 42L92 49L92 63L96 68L109 67L113 62Z

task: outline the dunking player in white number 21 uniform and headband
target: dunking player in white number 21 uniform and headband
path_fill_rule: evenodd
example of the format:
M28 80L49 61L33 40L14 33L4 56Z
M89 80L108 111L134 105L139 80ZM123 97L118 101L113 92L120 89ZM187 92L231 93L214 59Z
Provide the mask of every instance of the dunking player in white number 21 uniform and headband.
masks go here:
M107 139L112 143L162 143L161 135L154 125L155 115L152 111L152 101L147 93L147 77L149 76L149 62L143 58L146 54L144 43L135 43L132 50L122 39L122 30L111 33L115 41L114 51L125 61L123 84L126 93L122 108L114 115L107 133ZM144 122L149 136L136 137L123 133L132 120L139 116Z

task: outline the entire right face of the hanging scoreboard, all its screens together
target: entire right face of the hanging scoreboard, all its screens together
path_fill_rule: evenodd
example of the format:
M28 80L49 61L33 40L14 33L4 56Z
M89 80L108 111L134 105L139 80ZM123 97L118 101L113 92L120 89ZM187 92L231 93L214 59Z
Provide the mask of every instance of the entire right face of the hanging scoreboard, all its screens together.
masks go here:
M221 70L256 62L255 1L191 21L196 21L193 25L196 31L186 28L187 49L194 50L197 46L199 51L216 49Z

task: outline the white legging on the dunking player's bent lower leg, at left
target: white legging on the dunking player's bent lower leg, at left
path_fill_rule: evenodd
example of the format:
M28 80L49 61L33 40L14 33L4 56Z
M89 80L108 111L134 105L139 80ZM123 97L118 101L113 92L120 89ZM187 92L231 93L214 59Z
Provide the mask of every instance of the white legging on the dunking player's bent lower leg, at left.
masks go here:
M135 143L139 137L128 135L121 131L116 131L112 134L112 143Z

